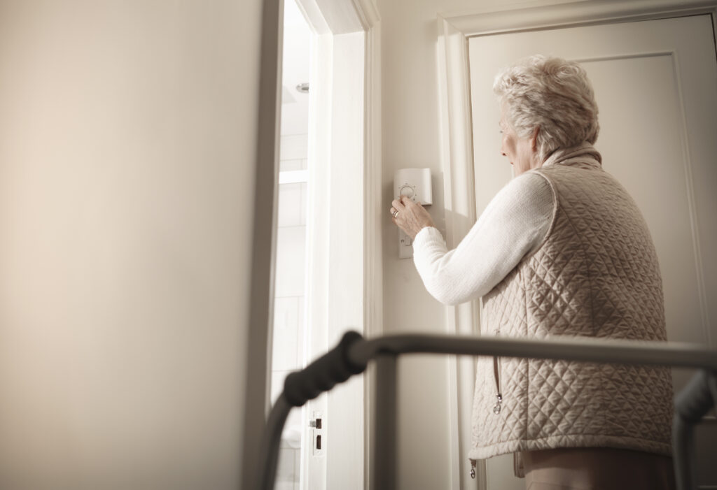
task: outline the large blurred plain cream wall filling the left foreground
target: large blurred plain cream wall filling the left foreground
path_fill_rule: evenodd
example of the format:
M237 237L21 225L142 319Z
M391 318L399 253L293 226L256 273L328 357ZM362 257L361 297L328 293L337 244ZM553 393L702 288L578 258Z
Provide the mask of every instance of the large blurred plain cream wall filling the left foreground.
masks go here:
M237 488L261 6L0 2L1 488Z

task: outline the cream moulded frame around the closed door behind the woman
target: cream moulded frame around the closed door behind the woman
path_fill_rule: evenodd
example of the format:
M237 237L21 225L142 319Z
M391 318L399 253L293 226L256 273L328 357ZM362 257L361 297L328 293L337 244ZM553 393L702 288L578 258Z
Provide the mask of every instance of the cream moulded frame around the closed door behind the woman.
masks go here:
M473 175L468 38L538 29L665 19L711 14L716 29L717 0L609 0L548 4L522 9L480 11L438 16L438 79L442 167L444 172L446 242L455 246L476 220ZM717 49L717 46L716 46ZM445 308L448 332L480 335L478 300ZM454 359L449 366L452 490L487 488L485 461L479 461L476 481L467 478L470 464L471 404L475 385L472 358Z

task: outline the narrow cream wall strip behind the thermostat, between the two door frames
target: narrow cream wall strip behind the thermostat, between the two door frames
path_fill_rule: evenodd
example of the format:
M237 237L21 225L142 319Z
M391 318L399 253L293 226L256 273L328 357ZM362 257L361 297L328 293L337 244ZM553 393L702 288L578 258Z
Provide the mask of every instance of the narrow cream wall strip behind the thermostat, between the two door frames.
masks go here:
M445 332L444 308L423 288L412 260L399 260L389 219L394 171L430 167L437 227L443 180L437 87L437 16L473 14L561 1L377 0L381 16L381 98L384 186L384 332ZM495 151L500 141L496 132ZM448 488L450 426L447 359L422 356L399 364L400 489Z

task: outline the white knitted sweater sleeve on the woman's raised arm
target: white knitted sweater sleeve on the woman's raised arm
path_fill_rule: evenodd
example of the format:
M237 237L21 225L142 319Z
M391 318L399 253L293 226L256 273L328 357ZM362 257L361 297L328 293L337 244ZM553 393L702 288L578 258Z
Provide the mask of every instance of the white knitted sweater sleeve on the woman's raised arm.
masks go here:
M541 245L554 199L545 177L526 172L493 197L454 250L447 250L436 228L423 228L413 242L414 263L428 292L447 305L488 293Z

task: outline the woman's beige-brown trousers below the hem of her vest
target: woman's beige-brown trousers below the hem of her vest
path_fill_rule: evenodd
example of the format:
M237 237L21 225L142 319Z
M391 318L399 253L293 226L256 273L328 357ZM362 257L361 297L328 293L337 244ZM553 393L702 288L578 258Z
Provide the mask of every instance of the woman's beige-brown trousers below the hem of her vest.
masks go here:
M612 448L523 451L526 490L674 490L669 456Z

